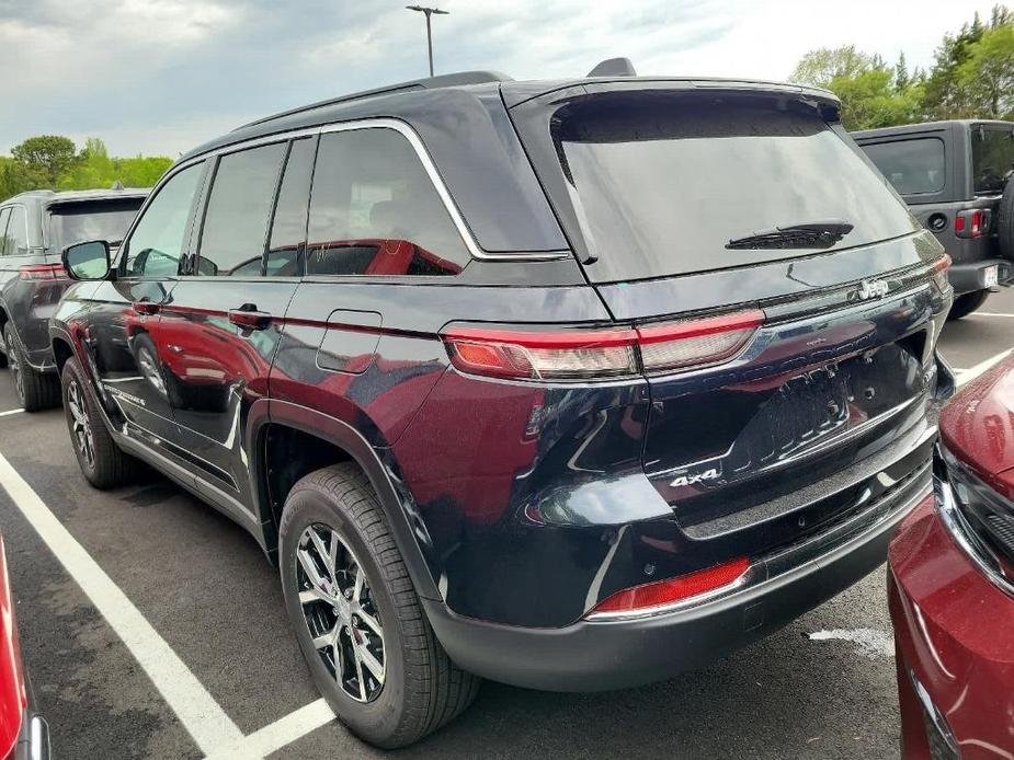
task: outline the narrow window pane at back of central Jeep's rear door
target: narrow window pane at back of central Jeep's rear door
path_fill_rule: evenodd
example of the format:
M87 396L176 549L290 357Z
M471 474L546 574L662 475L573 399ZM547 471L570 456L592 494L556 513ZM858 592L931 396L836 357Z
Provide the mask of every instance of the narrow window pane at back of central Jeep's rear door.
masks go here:
M293 142L285 162L285 175L271 223L267 244L267 276L298 277L303 274L300 246L306 242L306 214L314 175L316 140Z

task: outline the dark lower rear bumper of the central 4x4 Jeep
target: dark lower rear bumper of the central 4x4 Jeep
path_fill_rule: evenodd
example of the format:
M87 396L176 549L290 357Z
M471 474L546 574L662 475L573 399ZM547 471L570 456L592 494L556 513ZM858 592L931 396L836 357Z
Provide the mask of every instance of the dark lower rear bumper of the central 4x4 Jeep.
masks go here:
M755 563L756 575L743 587L664 614L523 629L462 618L437 601L423 603L452 659L485 678L547 691L659 681L772 633L874 571L895 527L928 490L925 465L852 520Z

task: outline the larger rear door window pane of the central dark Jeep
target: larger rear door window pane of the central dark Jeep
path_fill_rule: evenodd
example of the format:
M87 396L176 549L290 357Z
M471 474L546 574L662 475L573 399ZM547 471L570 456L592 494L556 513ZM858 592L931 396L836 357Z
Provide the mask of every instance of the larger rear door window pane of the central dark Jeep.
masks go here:
M198 275L263 273L267 222L286 143L229 153L218 161L201 233Z

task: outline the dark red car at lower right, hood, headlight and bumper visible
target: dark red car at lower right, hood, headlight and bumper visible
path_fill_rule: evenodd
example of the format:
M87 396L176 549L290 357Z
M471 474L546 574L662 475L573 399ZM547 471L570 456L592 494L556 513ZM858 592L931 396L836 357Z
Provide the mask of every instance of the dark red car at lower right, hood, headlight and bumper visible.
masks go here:
M907 759L1014 758L1014 355L941 415L888 594Z

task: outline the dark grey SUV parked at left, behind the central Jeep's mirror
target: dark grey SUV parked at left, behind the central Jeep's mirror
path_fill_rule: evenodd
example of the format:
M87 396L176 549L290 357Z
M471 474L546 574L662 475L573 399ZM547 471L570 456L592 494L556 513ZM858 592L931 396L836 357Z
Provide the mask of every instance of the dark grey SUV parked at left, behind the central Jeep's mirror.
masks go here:
M33 191L0 203L0 367L26 412L58 403L49 318L71 280L60 251L101 238L115 249L147 189Z

